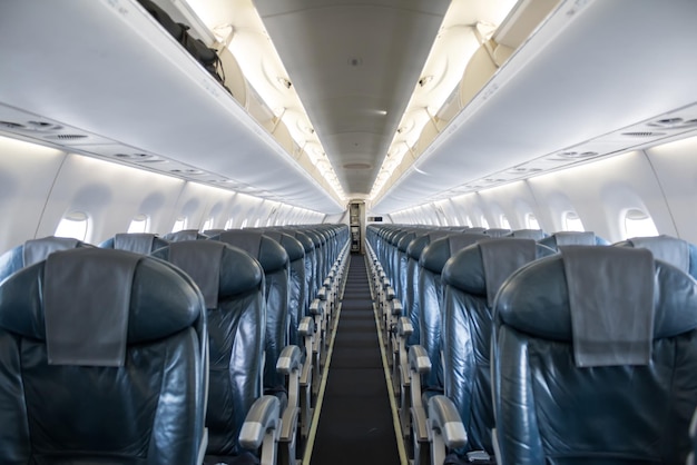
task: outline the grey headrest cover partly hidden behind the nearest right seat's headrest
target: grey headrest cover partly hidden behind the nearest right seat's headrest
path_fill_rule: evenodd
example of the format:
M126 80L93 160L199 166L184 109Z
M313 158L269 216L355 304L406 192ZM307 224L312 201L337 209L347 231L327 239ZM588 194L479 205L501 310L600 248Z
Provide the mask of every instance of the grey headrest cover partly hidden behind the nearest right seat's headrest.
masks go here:
M487 279L487 303L493 306L499 288L509 276L537 257L537 243L533 239L484 239L477 243L482 254L484 279Z

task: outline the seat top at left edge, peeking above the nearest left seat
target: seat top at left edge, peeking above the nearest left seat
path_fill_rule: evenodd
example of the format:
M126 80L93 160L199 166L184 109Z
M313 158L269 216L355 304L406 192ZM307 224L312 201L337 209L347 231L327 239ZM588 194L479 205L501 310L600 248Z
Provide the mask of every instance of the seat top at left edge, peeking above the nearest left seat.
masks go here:
M0 281L30 265L45 260L57 250L94 247L90 244L67 237L47 236L30 239L0 255Z

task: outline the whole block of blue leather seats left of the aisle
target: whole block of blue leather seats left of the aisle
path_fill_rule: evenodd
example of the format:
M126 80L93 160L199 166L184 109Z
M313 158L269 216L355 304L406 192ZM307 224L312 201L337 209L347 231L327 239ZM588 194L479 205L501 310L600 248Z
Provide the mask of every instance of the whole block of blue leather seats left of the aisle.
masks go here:
M17 425L0 463L297 463L347 233L48 237L0 256L0 416Z

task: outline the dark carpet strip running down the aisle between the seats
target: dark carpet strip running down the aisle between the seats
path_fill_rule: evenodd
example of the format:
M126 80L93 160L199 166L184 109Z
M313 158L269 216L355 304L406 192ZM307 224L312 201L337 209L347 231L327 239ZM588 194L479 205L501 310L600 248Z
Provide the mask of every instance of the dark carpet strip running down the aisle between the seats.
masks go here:
M312 465L397 465L367 273L351 256Z

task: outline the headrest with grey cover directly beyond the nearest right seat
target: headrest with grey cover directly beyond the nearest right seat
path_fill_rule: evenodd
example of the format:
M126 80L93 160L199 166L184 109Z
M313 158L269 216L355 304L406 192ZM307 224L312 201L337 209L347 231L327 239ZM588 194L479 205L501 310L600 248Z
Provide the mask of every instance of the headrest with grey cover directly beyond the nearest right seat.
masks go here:
M443 267L442 278L462 291L487 296L492 306L499 288L513 271L550 255L554 250L532 239L483 239L454 254Z

